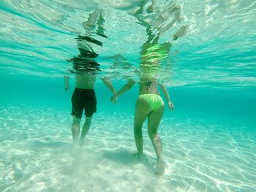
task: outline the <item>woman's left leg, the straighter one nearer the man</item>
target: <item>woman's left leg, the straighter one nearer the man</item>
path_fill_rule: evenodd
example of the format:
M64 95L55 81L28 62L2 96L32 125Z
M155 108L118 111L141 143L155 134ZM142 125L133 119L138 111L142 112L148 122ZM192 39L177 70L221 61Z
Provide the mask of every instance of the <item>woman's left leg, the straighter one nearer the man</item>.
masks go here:
M146 101L143 101L142 99L139 98L135 105L135 119L134 119L135 144L139 154L143 153L142 126L150 111L151 111L151 107L148 106Z

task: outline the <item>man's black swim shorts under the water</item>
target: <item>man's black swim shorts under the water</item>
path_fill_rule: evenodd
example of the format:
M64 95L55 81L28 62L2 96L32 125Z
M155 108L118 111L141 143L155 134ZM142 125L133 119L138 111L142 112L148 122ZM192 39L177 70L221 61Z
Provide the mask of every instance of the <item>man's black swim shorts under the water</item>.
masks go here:
M97 111L97 99L94 89L75 88L72 94L72 113L76 118L82 118L83 109L86 117L91 117Z

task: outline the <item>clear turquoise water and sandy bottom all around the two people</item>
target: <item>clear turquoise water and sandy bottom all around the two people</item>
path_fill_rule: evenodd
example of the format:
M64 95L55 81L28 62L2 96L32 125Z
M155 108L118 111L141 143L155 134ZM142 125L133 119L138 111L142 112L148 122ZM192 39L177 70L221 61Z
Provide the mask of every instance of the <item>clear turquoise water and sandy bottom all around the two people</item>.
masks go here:
M255 1L157 1L135 15L141 4L1 1L0 191L256 191ZM101 69L97 113L86 145L74 150L75 78L66 92L63 75L95 10L105 20L92 22L89 35L102 42L91 44ZM114 105L100 80L112 77L116 90L127 77L138 80L147 25L172 44L159 68L175 104L159 126L162 176L146 123L145 155L134 157L138 84Z

